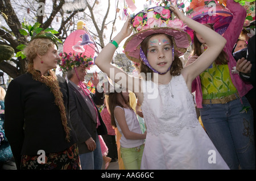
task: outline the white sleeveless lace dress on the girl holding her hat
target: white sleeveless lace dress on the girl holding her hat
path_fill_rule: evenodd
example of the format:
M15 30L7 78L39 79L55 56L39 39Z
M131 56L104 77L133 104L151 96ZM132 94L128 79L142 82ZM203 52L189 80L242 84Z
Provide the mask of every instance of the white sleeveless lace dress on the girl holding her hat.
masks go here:
M182 75L168 85L143 82L143 96L147 137L141 169L229 169L197 120Z

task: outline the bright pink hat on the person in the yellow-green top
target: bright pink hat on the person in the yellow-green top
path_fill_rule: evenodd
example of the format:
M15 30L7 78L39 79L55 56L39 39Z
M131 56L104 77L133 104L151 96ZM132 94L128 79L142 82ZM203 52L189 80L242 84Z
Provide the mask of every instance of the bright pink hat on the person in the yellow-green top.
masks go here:
M233 14L226 9L225 0L192 0L189 10L186 12L187 16L201 24L212 24L213 30L223 35L233 19ZM186 28L186 31L193 40L193 30Z

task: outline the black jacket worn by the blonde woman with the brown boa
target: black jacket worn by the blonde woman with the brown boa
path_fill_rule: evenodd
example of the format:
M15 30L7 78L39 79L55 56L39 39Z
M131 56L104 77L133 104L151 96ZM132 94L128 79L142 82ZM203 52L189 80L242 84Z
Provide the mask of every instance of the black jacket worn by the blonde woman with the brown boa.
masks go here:
M57 76L63 93L64 106L69 120L69 91L63 77ZM55 97L44 83L32 79L30 73L20 75L10 82L5 96L5 132L19 169L21 155L37 155L38 150L55 153L75 143L65 140L59 107ZM73 136L72 136L73 135Z

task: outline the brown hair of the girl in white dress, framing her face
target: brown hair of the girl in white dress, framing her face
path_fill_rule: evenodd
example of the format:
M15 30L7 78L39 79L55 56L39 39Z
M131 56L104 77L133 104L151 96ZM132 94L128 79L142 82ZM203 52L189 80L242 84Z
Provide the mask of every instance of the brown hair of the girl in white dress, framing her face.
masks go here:
M148 49L148 41L150 40L151 37L153 37L155 35L159 35L159 34L153 34L153 35L147 36L146 39L144 39L141 43L141 48L142 48L144 54L146 55L146 57L147 57L146 52ZM164 35L166 35L166 34L164 34ZM166 37L170 40L171 45L173 46L174 44L172 43L172 41L173 41L172 36L166 35ZM180 60L179 56L177 56L176 52L174 51L174 60L172 61L170 74L172 76L180 75L180 70L182 68L183 68L182 61ZM139 71L140 71L140 73L144 73L144 74L151 73L151 76L153 75L153 71L150 68L148 68L148 66L146 64L144 64L143 61L141 61L141 64L139 66Z

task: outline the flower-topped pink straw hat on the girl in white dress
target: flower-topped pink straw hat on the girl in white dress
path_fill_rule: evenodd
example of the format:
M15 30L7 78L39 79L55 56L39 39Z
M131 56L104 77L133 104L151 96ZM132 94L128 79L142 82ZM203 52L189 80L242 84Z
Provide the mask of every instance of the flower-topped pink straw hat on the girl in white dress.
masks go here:
M191 37L184 31L185 25L179 19L173 20L169 7L157 6L138 12L131 19L134 34L124 44L127 58L141 62L140 47L142 41L153 34L166 34L173 38L174 50L178 56L183 55L191 44Z

